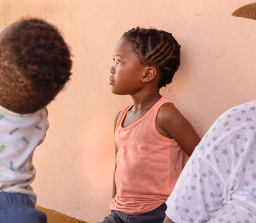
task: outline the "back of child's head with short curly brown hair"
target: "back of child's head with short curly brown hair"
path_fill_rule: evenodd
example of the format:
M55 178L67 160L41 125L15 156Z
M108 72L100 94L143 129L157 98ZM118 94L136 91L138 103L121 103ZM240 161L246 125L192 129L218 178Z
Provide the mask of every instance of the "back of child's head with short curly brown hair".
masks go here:
M69 47L58 29L42 19L19 20L0 35L0 105L17 113L36 112L69 80Z

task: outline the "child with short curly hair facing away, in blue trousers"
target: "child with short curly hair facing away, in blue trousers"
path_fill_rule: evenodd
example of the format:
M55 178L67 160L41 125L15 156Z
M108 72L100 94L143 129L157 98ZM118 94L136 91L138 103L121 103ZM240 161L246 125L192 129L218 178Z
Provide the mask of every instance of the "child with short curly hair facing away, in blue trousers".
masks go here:
M71 75L70 58L61 33L42 19L0 32L0 222L47 222L35 209L32 156L48 129L45 107Z

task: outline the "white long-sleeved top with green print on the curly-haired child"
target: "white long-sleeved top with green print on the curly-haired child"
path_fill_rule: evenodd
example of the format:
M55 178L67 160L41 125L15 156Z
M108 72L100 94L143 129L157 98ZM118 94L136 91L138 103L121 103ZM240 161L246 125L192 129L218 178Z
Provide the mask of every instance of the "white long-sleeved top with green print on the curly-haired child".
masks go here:
M47 110L20 115L0 106L0 191L22 193L34 202L32 156L48 129Z

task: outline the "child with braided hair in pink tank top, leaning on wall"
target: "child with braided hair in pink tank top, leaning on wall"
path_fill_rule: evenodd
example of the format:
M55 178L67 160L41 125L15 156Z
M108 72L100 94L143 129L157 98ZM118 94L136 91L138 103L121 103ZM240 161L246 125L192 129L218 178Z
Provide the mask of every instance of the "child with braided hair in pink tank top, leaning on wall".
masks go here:
M182 171L182 149L190 156L200 141L192 125L159 89L180 65L180 45L171 33L132 28L115 46L113 94L133 105L115 118L116 166L112 214L106 222L163 222L166 199Z

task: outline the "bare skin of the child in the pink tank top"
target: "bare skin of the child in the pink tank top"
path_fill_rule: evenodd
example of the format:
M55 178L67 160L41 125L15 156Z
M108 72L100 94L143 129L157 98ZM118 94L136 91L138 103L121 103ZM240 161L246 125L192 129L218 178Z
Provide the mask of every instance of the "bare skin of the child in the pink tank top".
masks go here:
M159 74L156 68L140 63L130 50L130 43L125 39L119 40L113 57L115 63L110 68L112 92L118 95L128 94L133 99L133 107L126 113L121 123L123 127L127 127L142 118L162 97L157 87ZM115 126L119 113L115 117ZM175 139L188 156L200 142L200 137L192 125L171 103L166 103L159 109L156 128L162 136ZM113 197L116 193L115 180L113 180Z

